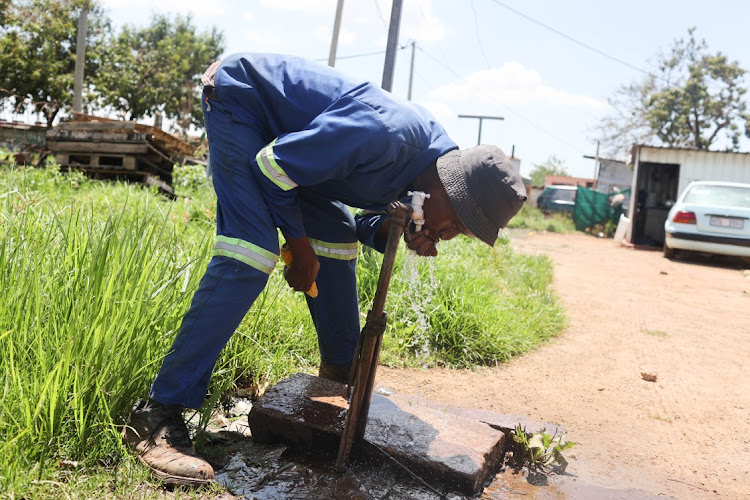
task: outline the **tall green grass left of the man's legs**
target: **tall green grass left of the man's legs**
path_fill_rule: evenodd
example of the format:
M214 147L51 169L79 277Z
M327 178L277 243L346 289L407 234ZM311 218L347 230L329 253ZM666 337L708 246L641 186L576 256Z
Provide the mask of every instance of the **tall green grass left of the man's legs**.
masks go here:
M0 224L2 483L60 458L117 456L115 418L143 394L184 313L210 238L183 239L154 195L119 186L59 203L70 181L14 171ZM86 182L81 180L81 182ZM80 184L78 185L80 188Z

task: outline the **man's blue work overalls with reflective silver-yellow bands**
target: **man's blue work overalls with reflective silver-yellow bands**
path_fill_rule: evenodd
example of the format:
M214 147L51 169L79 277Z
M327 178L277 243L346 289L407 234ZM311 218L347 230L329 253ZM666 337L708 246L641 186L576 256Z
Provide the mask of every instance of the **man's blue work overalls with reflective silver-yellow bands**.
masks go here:
M322 363L350 363L360 324L347 205L384 209L457 148L423 108L291 56L227 57L204 88L203 114L216 245L150 393L188 408L203 403L221 350L278 261L277 228L307 236L319 258L318 297L307 303Z

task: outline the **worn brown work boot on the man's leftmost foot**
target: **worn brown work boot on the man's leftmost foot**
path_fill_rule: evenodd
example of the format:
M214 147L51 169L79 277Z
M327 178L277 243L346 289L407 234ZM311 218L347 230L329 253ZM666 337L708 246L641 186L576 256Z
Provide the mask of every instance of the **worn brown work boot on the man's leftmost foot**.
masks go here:
M151 473L167 484L208 484L211 465L196 455L180 405L142 399L122 430L122 441Z

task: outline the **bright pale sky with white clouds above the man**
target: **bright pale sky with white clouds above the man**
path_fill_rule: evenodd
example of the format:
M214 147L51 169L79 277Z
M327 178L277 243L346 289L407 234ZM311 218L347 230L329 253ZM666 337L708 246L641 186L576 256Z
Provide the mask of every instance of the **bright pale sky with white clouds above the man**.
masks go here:
M337 0L100 0L116 26L189 14L224 33L226 54L272 52L328 62ZM344 0L337 69L380 84L392 0ZM551 156L592 177L608 98L641 81L690 27L710 51L750 70L746 0L403 0L392 92L429 109L460 148L481 142L521 159ZM750 78L746 81L750 84ZM750 151L744 141L743 151Z

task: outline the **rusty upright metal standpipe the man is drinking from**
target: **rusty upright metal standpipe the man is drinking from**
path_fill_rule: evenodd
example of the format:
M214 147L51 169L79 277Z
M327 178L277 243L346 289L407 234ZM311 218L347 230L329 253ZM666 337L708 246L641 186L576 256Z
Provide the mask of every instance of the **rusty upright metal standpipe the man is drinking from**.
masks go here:
M341 435L339 454L336 458L336 468L338 470L344 469L349 461L352 445L355 441L362 439L365 433L367 415L370 411L370 399L372 398L375 374L377 372L378 357L380 356L380 346L387 318L387 315L383 312L385 299L388 295L388 286L393 274L393 265L396 261L398 244L401 240L401 235L404 233L406 221L411 216L411 211L412 209L409 205L398 201L392 202L388 206L388 213L391 215L391 227L388 231L388 241L383 256L383 263L380 267L372 309L370 309L365 326L360 333L352 367L353 373L350 373L350 382L351 378L354 378L354 385L349 402L349 411L346 415L346 424Z

